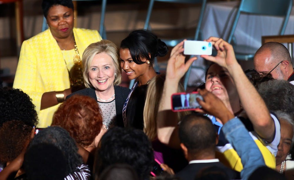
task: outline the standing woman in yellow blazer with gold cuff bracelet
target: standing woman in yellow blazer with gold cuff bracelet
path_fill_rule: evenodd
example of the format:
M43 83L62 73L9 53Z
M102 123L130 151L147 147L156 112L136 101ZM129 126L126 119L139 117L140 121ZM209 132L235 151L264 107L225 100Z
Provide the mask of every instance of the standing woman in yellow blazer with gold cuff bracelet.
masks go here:
M14 88L27 93L36 106L39 127L51 125L58 104L83 87L82 54L100 41L97 30L74 28L71 0L43 0L49 29L23 42Z

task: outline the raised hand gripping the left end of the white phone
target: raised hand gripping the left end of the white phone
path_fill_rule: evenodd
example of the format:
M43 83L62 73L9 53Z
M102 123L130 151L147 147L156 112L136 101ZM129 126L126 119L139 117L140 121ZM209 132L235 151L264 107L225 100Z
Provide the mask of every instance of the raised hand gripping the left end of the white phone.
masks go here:
M171 50L171 56L168 60L168 64L166 67L166 78L169 79L176 79L180 81L180 79L185 75L188 71L189 67L193 63L197 57L191 57L186 63L185 58L186 56L183 55L183 40L181 43L178 43L173 49Z

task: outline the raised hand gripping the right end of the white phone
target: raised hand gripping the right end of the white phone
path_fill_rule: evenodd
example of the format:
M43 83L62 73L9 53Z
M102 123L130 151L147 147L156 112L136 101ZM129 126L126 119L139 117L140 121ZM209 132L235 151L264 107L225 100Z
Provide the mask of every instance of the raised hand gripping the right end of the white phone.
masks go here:
M228 69L231 65L238 63L235 57L233 46L221 38L210 37L207 42L211 42L217 50L215 57L208 55L201 55L206 60L217 63L218 65Z

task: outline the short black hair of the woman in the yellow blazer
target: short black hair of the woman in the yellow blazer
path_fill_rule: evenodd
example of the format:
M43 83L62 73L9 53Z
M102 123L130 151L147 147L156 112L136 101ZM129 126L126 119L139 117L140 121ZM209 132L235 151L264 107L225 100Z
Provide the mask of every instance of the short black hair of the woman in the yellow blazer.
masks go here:
M61 5L71 8L74 11L74 4L72 0L43 0L42 11L45 18L47 18L49 9L54 5Z

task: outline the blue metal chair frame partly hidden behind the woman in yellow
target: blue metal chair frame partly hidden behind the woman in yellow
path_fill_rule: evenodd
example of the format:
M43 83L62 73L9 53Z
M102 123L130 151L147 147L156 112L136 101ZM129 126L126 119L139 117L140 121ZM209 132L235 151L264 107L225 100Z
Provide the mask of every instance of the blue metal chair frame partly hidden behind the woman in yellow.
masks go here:
M98 0L73 0L73 1L98 1ZM105 11L106 11L106 1L107 0L102 0L102 5L101 5L101 17L100 17L100 26L99 26L99 33L102 37L102 39L106 39L106 29L104 26L104 19L105 19ZM48 29L48 25L46 22L46 18L43 17L43 25L42 25L42 31Z

